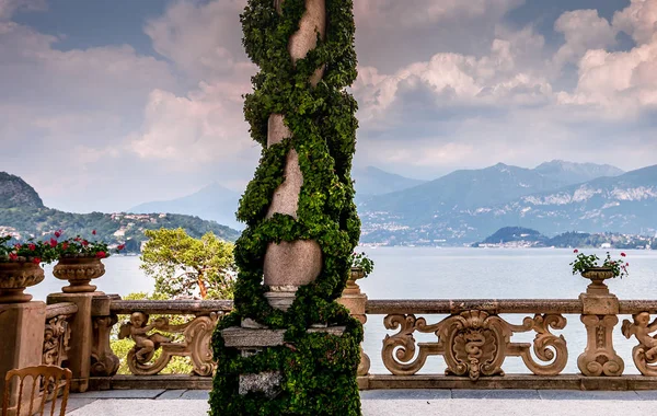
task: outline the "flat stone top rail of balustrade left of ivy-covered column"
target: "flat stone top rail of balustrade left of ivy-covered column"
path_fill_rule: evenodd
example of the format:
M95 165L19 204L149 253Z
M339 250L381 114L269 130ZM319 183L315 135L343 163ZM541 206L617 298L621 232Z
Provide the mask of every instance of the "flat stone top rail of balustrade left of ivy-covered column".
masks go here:
M114 300L110 307L116 314L140 311L172 315L230 312L232 309L232 300Z

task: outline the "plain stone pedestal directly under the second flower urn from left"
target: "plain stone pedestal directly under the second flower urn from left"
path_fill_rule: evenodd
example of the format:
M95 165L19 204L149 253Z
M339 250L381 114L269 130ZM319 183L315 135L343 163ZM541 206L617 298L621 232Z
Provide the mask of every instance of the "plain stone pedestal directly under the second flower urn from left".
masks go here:
M73 373L72 392L82 393L89 389L93 344L92 301L96 296L105 296L105 293L53 293L47 298L48 304L71 302L78 307L78 313L70 321L71 338L68 353L68 368Z

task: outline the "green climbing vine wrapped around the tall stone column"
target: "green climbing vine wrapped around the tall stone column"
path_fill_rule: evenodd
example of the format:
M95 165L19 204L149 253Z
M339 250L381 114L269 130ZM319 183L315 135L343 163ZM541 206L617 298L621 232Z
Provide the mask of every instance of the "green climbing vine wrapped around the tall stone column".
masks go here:
M358 243L360 220L350 177L356 145L357 108L345 91L357 76L353 0L326 0L324 39L292 63L290 36L299 30L304 0L285 0L278 13L274 0L249 0L241 15L243 44L260 67L253 92L244 101L252 138L262 147L260 165L246 187L238 218L246 229L234 250L240 269L235 310L219 324L212 339L217 375L210 396L214 415L359 415L356 369L362 327L335 302L349 274L349 255ZM318 85L311 76L324 68ZM291 138L267 148L269 115L284 114ZM297 219L276 213L266 218L276 188L284 181L286 157L299 157L303 185ZM264 297L264 257L268 244L312 240L322 250L319 277L297 291L287 312ZM242 357L224 346L221 330L252 319L286 330L285 345ZM344 326L342 336L309 333L312 324ZM264 393L239 394L239 374L280 372L275 400Z

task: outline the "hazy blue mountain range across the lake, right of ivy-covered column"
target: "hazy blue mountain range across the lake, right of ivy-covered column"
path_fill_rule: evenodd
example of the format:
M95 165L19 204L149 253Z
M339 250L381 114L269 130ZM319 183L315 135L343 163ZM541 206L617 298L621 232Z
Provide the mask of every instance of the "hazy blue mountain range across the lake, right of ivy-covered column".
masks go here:
M540 229L548 235L573 230L655 233L657 166L575 185L567 182L576 182L576 175L563 176L573 169L544 173L545 166L526 170L497 164L458 171L372 197L359 206L361 242L465 243L508 224Z

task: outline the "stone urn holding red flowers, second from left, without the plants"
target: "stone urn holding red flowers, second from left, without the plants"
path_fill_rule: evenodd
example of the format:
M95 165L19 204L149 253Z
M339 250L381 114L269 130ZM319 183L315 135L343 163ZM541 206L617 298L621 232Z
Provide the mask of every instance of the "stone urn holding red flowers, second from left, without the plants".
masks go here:
M61 257L53 269L53 275L61 280L68 280L69 286L61 288L65 293L93 292L96 287L90 285L105 274L105 265L96 257Z

